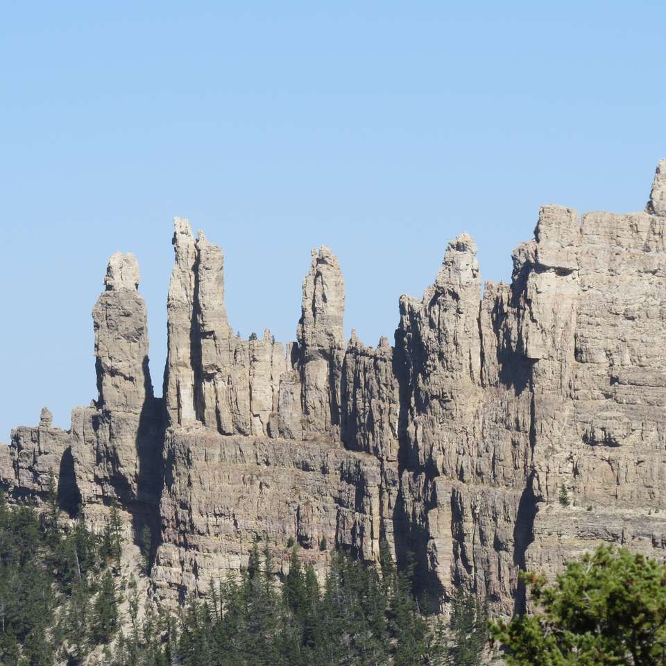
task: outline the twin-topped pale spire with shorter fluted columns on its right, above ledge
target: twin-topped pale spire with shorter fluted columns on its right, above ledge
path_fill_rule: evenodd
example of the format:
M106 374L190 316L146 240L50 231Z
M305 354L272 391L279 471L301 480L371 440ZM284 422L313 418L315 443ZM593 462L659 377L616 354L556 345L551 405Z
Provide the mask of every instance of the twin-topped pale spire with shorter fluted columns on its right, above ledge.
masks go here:
M289 370L284 348L268 330L256 340L234 334L225 308L221 248L203 232L195 241L187 221L176 219L175 225L164 374L171 424L268 434L271 418L277 419L280 377Z

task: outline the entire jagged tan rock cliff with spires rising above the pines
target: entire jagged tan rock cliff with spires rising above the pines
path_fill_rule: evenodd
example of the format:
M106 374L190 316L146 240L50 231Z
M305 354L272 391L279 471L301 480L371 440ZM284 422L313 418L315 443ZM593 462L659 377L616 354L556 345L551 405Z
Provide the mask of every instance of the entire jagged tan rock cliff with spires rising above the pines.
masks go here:
M237 570L258 538L323 570L333 547L416 554L434 606L456 585L499 612L518 572L552 572L599 540L666 545L666 161L645 212L547 205L481 283L450 242L422 298L400 298L395 345L343 339L341 268L313 250L296 341L243 340L225 310L222 250L176 219L164 398L148 373L133 255L112 255L93 310L99 396L68 432L20 427L0 450L15 497L101 529L118 502L153 532L153 594L183 599ZM563 506L558 497L567 495Z

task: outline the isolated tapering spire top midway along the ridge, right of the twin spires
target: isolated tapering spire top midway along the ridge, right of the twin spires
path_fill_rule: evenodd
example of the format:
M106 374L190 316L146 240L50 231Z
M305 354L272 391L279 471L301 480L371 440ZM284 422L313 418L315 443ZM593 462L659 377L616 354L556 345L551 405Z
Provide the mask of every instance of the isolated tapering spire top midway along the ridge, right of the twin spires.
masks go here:
M340 262L325 245L312 250L310 270L303 280L298 341L303 348L344 347L345 281Z

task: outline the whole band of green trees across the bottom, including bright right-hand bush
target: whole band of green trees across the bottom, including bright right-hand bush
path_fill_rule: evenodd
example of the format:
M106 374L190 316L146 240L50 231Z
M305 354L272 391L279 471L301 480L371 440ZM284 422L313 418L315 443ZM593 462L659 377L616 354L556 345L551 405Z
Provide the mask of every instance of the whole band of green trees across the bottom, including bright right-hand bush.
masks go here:
M53 477L41 509L0 493L2 666L666 666L666 565L601 546L554 580L523 573L531 612L490 622L459 590L444 622L382 544L377 565L343 552L323 584L293 541L278 573L268 543L184 607L149 606L123 575L122 524L61 521ZM142 531L148 573L149 530ZM488 641L488 631L490 640Z

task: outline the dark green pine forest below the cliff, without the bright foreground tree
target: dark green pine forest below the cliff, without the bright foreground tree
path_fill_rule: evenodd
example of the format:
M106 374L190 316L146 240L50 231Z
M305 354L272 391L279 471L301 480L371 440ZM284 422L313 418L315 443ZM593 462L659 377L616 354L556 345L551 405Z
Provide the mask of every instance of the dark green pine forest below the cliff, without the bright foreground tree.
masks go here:
M121 576L121 524L102 535L82 520L0 497L0 663L3 666L475 666L483 604L461 592L450 624L422 612L409 571L334 554L323 587L291 547L289 574L255 545L248 567L178 613L141 612ZM123 610L121 612L121 603Z

